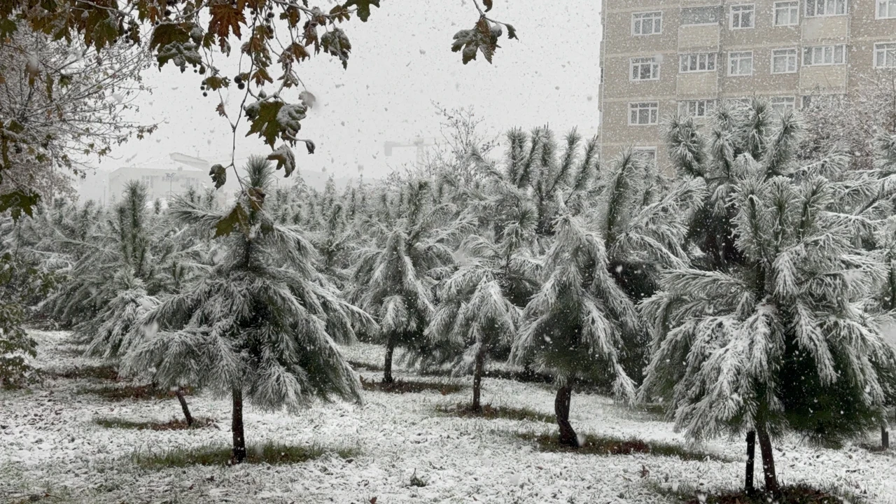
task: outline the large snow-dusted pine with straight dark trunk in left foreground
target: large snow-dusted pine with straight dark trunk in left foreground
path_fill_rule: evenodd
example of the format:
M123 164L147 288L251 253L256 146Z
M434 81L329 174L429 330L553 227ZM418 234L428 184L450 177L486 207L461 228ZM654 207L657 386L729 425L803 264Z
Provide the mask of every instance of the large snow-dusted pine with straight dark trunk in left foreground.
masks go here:
M358 378L336 342L373 324L315 270L314 247L301 230L265 212L270 162L251 158L246 172L246 188L227 213L183 200L170 208L178 222L215 230L220 262L147 314L147 335L125 359L127 371L151 370L161 385L229 395L236 463L246 459L244 397L290 411L315 397L360 400Z

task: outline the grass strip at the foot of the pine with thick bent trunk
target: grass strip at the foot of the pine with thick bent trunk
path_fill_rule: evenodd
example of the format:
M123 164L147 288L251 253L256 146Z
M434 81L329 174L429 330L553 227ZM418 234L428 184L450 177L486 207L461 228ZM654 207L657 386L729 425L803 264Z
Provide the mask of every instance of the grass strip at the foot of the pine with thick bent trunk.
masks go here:
M633 453L643 453L653 456L677 456L682 460L705 460L709 458L710 460L730 462L726 457L687 449L681 445L659 441L644 441L637 438L621 439L589 434L584 436L584 442L581 447L569 448L561 446L559 439L554 433L524 433L517 434L517 436L527 441L534 441L538 445L539 450L548 452L581 453L582 455L631 455Z

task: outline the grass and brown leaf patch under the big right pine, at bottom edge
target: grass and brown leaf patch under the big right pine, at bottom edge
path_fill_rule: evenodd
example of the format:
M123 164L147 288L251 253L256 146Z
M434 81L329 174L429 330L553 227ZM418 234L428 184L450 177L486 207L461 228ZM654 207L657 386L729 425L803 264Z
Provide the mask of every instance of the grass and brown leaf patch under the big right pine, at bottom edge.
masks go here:
M757 484L762 484L760 477ZM697 491L694 487L683 486L677 491L670 491L659 486L658 482L651 482L650 486L662 495L668 495L676 502L683 504L843 504L851 502L858 504L866 502L866 499L851 491L837 491L831 489L817 489L806 484L784 486L778 497L757 489L754 493L746 493L743 489L732 491ZM701 499L702 497L702 499ZM846 498L844 500L844 497Z

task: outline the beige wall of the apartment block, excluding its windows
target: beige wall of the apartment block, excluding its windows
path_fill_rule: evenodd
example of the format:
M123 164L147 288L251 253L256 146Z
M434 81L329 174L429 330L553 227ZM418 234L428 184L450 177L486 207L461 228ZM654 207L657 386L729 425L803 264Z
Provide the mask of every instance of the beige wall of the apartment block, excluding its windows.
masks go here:
M874 44L896 42L896 17L878 19L878 0L848 0L842 15L807 16L807 0L798 0L797 24L775 26L774 6L781 0L602 0L603 41L600 49L599 91L602 156L613 158L629 147L656 149L658 162L668 166L663 147L663 122L682 100L739 99L751 96L792 98L857 91L874 68ZM731 26L731 7L754 5L752 28ZM719 21L687 24L692 7L719 9ZM659 34L634 35L633 14L662 12ZM694 19L693 17L691 18ZM804 48L846 45L842 65L803 65ZM772 74L772 51L797 49L797 71ZM728 53L753 51L753 73L728 74ZM679 55L716 55L711 72L679 73ZM659 79L633 81L630 60L655 57ZM629 125L629 103L657 102L659 124Z

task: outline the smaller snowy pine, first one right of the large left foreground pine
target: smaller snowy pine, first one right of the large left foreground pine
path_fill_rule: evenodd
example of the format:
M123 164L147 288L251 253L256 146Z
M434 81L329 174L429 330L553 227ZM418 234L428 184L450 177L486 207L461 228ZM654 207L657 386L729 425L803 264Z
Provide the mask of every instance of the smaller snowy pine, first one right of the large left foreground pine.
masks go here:
M375 245L358 249L352 274L353 300L379 324L385 344L383 383L392 383L396 348L413 353L426 347L423 335L435 314L433 272L452 264L452 245L464 221L451 222L451 205L434 204L426 180L410 180L400 194L380 197L367 221L379 228Z

